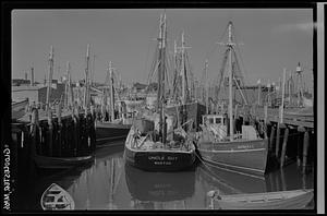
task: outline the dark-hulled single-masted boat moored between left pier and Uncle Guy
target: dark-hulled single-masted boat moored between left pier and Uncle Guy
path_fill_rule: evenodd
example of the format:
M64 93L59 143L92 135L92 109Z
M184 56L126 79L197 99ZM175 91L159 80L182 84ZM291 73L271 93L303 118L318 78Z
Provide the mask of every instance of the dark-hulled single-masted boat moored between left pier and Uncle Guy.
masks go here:
M105 143L109 143L110 141L114 140L122 140L125 139L129 134L129 131L131 129L131 121L128 121L130 119L133 119L133 115L128 116L126 111L122 111L124 105L123 101L120 101L120 109L121 109L121 118L116 119L116 109L114 109L114 86L113 86L113 68L112 62L109 62L108 68L108 75L110 80L110 85L108 86L109 93L110 93L110 115L108 121L97 121L96 122L96 140L97 140L97 146L101 146ZM108 77L108 76L107 76ZM108 79L107 79L108 80ZM108 91L105 89L104 92L104 103L102 103L102 109L106 107L107 104L107 93ZM105 119L105 118L104 118Z

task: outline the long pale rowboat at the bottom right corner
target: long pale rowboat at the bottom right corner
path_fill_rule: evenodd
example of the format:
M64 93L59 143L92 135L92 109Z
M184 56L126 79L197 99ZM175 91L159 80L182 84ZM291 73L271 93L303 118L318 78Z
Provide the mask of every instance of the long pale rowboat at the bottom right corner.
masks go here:
M219 195L209 191L213 209L300 209L313 199L313 189L277 191L267 193L249 193Z

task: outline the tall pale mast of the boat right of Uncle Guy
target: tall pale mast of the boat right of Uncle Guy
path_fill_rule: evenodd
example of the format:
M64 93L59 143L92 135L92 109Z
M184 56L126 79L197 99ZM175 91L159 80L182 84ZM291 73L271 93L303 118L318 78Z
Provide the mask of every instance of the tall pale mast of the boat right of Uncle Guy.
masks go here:
M232 89L233 89L233 74L232 74L232 46L234 46L234 44L232 43L232 33L231 33L231 27L232 27L232 23L229 22L228 24L228 48L229 48L229 127L230 127L230 140L233 140L233 94L232 94Z

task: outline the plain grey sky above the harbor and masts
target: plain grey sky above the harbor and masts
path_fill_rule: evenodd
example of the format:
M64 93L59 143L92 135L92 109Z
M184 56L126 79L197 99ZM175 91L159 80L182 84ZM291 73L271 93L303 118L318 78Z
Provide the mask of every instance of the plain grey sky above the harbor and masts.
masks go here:
M12 79L24 77L34 67L35 80L48 74L50 46L55 50L53 79L64 75L71 63L74 81L85 74L90 45L93 79L105 82L109 61L125 83L146 83L164 9L14 10L12 11ZM169 51L185 34L192 71L202 77L208 59L209 80L221 68L217 45L229 21L241 45L245 83L278 82L286 68L294 72L301 62L306 86L312 86L313 11L311 9L167 9ZM226 41L226 40L223 40ZM217 48L216 48L217 47ZM48 76L48 75L47 75ZM29 74L28 74L29 77Z

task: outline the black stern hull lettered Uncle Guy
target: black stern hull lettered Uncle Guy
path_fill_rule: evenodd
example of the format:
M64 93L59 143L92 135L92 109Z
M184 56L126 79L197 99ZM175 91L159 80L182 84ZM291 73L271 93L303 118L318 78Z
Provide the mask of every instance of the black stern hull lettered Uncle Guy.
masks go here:
M146 171L181 171L195 165L195 152L183 151L134 151L124 148L124 159L129 165Z

